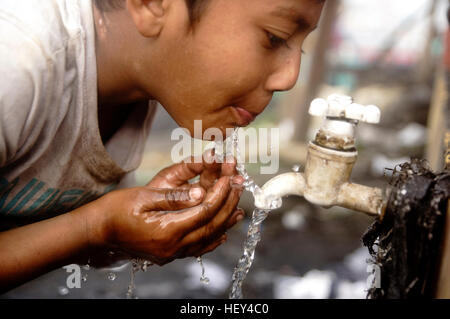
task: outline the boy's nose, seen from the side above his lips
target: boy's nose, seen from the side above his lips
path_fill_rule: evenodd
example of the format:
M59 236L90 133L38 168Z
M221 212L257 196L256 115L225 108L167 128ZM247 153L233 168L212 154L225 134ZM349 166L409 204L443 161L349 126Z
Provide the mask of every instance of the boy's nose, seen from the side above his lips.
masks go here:
M266 81L268 91L288 91L297 83L300 73L301 53L291 52L280 56Z

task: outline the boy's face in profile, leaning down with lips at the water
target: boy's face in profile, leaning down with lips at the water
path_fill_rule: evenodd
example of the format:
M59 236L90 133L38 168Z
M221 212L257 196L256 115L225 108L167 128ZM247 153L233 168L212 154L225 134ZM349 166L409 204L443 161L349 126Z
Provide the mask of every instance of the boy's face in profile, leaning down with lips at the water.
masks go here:
M160 60L151 62L160 68L152 95L191 134L194 120L223 132L248 125L275 91L295 85L303 41L322 7L318 0L210 0L189 31L186 9L174 6Z

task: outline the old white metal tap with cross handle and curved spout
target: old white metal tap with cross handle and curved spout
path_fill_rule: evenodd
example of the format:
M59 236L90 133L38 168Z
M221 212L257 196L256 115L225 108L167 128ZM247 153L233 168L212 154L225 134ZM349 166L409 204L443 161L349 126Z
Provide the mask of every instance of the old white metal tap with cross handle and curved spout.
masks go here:
M326 208L341 206L369 215L383 213L380 188L350 182L358 152L355 129L359 122L379 123L380 109L363 106L349 96L333 94L315 99L309 114L324 118L315 140L309 143L304 172L290 172L269 180L255 194L255 206L273 209L287 195L304 196L309 202Z

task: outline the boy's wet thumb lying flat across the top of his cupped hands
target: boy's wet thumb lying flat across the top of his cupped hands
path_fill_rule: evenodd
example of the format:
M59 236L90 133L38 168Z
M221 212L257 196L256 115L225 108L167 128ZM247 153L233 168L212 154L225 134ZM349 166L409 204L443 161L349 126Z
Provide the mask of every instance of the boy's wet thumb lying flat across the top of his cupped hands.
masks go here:
M192 188L144 188L147 210L181 210L197 206L205 196L201 187Z

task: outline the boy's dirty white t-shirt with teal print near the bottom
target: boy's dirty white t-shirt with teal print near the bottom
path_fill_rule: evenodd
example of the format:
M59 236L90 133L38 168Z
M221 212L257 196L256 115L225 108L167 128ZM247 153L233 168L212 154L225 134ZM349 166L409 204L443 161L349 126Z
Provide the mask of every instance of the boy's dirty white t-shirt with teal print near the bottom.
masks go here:
M91 0L0 1L0 229L65 213L141 161L156 103L103 145Z

